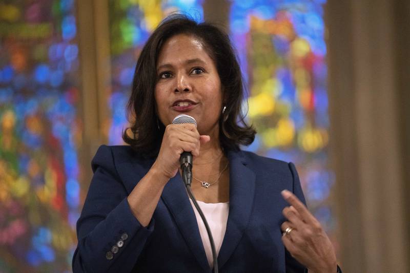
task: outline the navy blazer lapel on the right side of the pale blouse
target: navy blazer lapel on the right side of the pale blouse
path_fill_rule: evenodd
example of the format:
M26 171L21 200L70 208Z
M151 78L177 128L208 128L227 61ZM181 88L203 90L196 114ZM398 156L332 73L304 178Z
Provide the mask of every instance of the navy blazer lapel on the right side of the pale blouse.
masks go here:
M230 186L227 229L218 255L221 268L231 257L250 220L255 195L255 173L246 166L241 151L229 151ZM245 258L245 257L244 257Z

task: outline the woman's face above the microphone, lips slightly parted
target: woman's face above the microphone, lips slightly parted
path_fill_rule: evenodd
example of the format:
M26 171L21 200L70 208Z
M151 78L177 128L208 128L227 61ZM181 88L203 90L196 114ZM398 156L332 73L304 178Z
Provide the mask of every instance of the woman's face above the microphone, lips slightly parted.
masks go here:
M168 39L158 56L157 77L155 102L164 125L187 114L195 118L201 135L219 132L221 82L200 40L187 34Z

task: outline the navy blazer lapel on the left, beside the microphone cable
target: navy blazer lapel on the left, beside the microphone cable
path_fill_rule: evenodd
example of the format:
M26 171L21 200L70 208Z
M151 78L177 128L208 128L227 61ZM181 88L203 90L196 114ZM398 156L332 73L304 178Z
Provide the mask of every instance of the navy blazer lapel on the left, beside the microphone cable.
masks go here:
M168 181L161 198L169 208L182 237L187 242L195 258L206 272L210 272L211 268L203 248L195 213L179 172Z

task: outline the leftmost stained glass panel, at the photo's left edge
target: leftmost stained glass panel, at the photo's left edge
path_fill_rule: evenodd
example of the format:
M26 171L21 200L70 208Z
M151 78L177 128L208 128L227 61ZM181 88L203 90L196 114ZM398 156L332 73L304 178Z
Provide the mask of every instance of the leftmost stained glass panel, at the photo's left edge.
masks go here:
M0 271L69 272L81 123L73 0L0 3Z

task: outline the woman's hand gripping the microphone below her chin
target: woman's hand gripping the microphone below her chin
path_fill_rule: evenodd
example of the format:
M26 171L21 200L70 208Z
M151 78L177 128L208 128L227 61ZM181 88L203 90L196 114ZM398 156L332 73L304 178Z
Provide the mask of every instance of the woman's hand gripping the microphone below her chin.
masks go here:
M178 172L182 152L191 152L195 158L199 155L200 145L208 141L210 137L200 136L195 124L169 124L165 128L161 148L152 169L156 169L168 181Z

